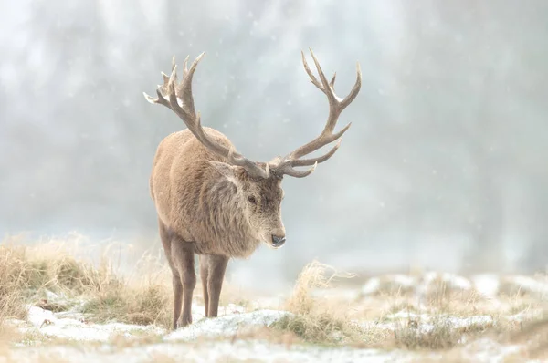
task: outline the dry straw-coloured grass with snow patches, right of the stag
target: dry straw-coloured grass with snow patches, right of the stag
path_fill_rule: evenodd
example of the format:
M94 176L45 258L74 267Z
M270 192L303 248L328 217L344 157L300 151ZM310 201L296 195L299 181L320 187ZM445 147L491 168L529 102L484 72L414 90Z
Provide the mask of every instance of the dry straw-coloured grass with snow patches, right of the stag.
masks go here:
M386 286L390 292L357 299L313 294L327 291L336 277L330 266L318 262L307 265L285 306L293 315L274 327L314 344L449 352L458 351L479 337L505 342L515 332L529 331L529 325L511 320L510 316L538 312L542 306L541 301L522 294L488 299L473 289L458 290L438 279L432 281L420 303L409 291L395 290L389 284ZM396 313L402 317L391 317ZM426 316L423 321L421 316ZM473 316L485 318L462 323L462 319ZM358 325L356 320L371 324ZM539 346L539 351L548 350L548 344ZM536 357L536 350L531 355Z

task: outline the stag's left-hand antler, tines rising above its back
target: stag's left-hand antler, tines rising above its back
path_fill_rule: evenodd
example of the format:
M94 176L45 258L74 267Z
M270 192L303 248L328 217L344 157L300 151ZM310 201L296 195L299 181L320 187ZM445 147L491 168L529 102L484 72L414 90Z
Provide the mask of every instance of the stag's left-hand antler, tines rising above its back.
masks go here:
M212 140L202 128L200 112L196 113L195 111L194 98L192 95L192 78L198 63L204 55L205 52L196 57L195 61L190 66L190 69L187 69L186 67L188 64L188 57L184 59L183 79L179 84L177 84L177 66L175 65L175 57L173 57L171 76L167 77L167 75L162 72L163 85L158 86L156 89L158 98L153 99L142 92L144 98L151 103L159 103L174 111L179 118L183 119L188 130L190 130L195 135L196 139L200 140L207 149L227 158L229 163L243 167L252 177L268 178L268 164L266 170L263 170L257 163L249 161L233 148L227 149L226 146L219 144L216 140Z

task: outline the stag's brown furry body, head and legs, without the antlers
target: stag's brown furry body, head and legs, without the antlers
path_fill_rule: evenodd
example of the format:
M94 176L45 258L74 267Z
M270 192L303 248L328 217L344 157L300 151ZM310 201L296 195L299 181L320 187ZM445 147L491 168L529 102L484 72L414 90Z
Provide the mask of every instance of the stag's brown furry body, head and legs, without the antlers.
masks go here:
M232 146L222 133L204 129L219 143ZM216 316L228 259L248 257L261 241L272 244L272 234L285 235L281 178L272 173L268 179L253 180L243 168L224 161L189 130L166 137L153 161L151 195L174 273L174 328L192 322L195 254L201 255L205 315ZM183 315L178 319L181 303Z

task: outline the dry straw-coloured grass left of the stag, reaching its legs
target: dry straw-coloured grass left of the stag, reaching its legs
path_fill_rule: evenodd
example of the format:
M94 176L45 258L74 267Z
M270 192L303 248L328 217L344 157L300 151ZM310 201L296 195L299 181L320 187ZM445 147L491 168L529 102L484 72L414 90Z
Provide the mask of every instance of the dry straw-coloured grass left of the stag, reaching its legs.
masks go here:
M159 257L144 254L122 277L108 248L99 264L75 257L77 248L59 241L0 245L0 327L6 318L25 318L27 304L58 312L82 301L79 311L97 322L170 325L171 277Z

